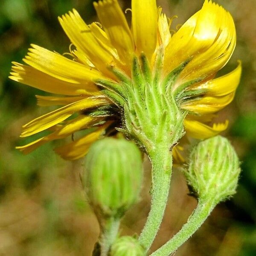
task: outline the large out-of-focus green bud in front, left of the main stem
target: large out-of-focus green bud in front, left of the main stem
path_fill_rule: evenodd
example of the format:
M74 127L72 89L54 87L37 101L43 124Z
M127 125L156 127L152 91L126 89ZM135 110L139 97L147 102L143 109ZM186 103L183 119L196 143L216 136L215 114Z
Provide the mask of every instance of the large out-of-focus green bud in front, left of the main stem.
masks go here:
M94 143L86 156L84 185L96 213L121 217L139 199L142 156L125 139L105 138Z

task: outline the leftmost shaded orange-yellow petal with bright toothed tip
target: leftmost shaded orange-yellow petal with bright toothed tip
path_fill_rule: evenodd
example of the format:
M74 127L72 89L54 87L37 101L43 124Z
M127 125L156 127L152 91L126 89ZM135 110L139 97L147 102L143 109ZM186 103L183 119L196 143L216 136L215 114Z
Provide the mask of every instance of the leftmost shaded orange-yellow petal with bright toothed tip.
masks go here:
M73 83L57 79L46 73L43 73L34 67L29 67L17 62L13 62L10 79L27 84L29 86L44 90L49 93L63 95L98 95L99 90L92 81L80 81Z

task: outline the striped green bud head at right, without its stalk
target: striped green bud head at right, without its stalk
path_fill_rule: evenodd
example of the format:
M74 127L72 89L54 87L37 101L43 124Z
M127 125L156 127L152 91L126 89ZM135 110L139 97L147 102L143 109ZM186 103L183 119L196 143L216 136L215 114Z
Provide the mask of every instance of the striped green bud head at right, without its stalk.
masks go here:
M218 203L236 193L239 159L226 138L212 137L195 146L184 173L198 198L214 198Z

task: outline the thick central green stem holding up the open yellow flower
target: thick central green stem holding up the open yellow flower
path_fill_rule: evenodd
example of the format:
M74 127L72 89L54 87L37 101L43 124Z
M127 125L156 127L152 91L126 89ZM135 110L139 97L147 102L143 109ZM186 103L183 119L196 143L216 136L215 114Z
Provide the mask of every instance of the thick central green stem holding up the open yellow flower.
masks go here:
M160 228L169 195L172 174L172 153L158 147L149 152L152 165L151 209L145 226L140 234L140 244L149 250Z

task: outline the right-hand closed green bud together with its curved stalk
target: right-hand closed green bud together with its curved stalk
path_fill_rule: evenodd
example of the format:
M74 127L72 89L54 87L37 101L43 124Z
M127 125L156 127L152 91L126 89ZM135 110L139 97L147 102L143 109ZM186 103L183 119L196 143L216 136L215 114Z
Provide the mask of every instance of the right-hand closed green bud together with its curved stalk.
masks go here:
M198 206L186 224L151 256L169 256L204 223L214 207L236 193L239 159L229 141L221 136L204 140L193 148L183 170Z

